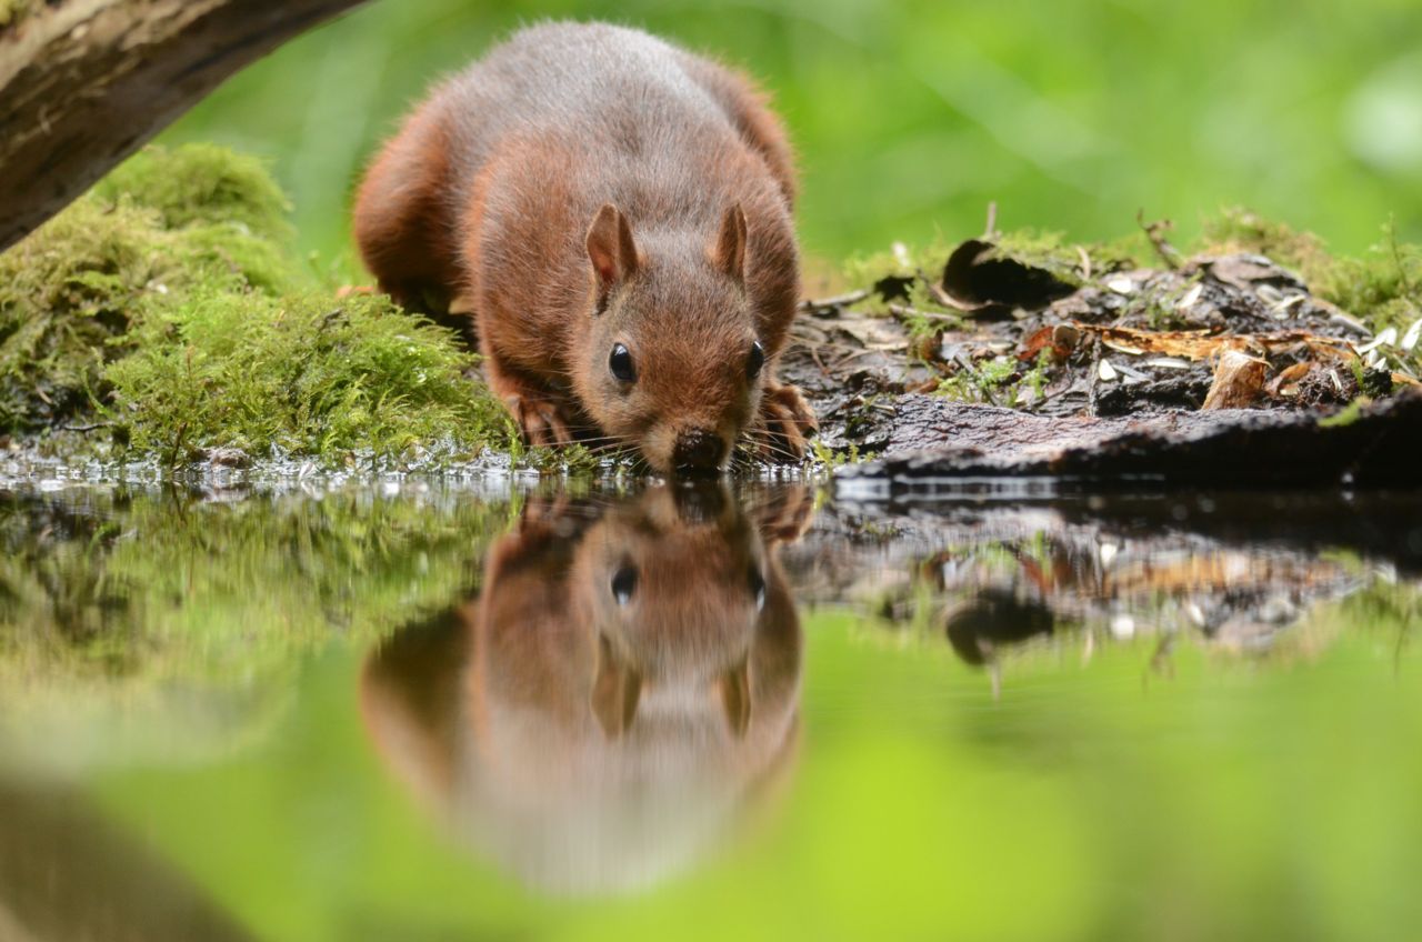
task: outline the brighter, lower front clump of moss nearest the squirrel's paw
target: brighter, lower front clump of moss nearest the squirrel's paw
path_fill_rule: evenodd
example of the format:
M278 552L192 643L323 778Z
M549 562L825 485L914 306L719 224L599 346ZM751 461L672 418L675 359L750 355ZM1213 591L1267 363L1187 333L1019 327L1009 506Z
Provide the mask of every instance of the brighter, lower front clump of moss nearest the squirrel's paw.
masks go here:
M503 410L465 373L472 356L387 299L199 292L159 305L137 350L105 370L132 447L181 461L235 445L390 455L441 440L509 437Z

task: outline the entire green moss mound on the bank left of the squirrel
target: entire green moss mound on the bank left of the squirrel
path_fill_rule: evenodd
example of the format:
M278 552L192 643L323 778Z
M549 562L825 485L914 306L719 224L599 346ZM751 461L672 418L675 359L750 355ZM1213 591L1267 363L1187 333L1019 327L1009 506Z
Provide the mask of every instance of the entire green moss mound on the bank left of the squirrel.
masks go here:
M458 342L384 299L316 290L287 209L253 158L154 148L0 255L0 433L98 410L173 461L505 444Z

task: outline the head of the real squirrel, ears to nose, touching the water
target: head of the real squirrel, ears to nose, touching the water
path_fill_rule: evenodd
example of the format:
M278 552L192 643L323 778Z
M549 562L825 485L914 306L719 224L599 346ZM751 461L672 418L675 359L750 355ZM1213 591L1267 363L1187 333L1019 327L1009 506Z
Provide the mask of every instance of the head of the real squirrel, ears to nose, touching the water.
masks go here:
M739 205L717 232L648 229L611 203L587 231L587 343L577 397L658 472L717 472L759 406L768 357L745 289Z

